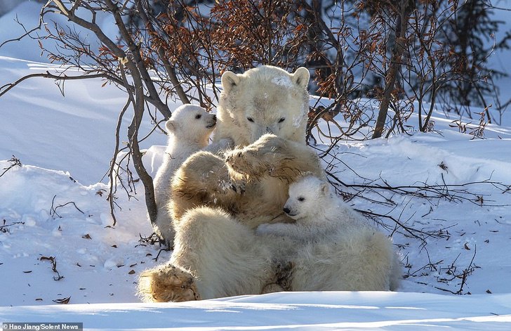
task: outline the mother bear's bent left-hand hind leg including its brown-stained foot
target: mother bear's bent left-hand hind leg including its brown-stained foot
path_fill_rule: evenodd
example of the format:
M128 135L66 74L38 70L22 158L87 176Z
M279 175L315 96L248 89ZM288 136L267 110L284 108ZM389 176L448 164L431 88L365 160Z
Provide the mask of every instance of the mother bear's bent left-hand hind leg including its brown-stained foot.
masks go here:
M140 275L144 301L260 294L275 282L272 249L222 210L191 209L176 230L170 263Z

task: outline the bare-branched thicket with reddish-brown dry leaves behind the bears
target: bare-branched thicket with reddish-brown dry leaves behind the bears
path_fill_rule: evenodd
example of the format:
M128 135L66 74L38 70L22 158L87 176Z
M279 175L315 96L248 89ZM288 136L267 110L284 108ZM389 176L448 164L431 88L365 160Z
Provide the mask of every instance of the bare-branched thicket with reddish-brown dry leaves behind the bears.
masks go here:
M485 8L490 8L487 5ZM310 89L317 96L317 103L310 108L307 141L328 145L322 157L344 139L410 131L409 119L414 113L418 114L419 130L431 131L434 105L448 96L455 100L454 92L444 92L446 86L460 90L474 82L493 82L488 74L473 74L484 67L485 58L470 60L466 52L459 56L452 47L455 42L446 39L449 29L460 27L456 18L464 9L458 1L435 0L220 0L207 5L190 0L51 0L41 9L39 27L25 29L25 37L38 39L41 51L60 65L60 70L5 84L0 96L32 77L54 79L62 93L65 82L92 78L125 91L126 103L119 110L116 144L107 171L107 200L115 225L117 190L135 197L134 184L140 179L154 220L154 188L142 164L139 142L144 137L138 130L142 121L150 121L157 130L162 120L171 116L168 100L192 100L213 108L218 102L217 83L225 70L242 72L260 64L294 70L305 65L312 71ZM58 24L58 15L68 23ZM116 23L117 35L102 30L101 16ZM496 28L488 20L484 24ZM91 33L85 37L83 30ZM498 41L498 47L505 47L507 38ZM48 41L56 48L46 46ZM473 40L469 41L463 49ZM467 73L469 69L472 74ZM479 89L475 93L485 108L473 134L482 136L491 118L484 97L489 92ZM365 97L380 101L378 112L362 99ZM130 115L128 142L123 145L121 123ZM326 130L319 121L326 121ZM465 130L461 122L453 125ZM378 186L364 182L352 189L364 196L368 190L389 188L385 182ZM443 189L426 185L394 188L402 195L449 198ZM472 200L462 191L454 193L453 200Z

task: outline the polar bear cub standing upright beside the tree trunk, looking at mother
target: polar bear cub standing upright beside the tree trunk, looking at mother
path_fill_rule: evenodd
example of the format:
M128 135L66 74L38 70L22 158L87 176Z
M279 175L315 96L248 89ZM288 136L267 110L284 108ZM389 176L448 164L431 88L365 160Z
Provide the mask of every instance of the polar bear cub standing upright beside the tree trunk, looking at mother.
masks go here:
M168 144L164 161L154 176L154 197L157 205L157 219L154 231L169 247L173 246L175 231L168 213L171 200L171 181L175 171L187 157L208 146L208 138L216 124L216 115L206 112L198 105L182 105L174 110L171 119L165 123Z

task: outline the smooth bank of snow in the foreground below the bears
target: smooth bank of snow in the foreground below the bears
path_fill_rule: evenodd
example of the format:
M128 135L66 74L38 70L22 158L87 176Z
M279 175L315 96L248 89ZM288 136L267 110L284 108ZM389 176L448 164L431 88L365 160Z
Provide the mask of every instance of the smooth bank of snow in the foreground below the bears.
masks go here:
M511 294L291 292L181 304L11 307L0 320L79 321L88 330L509 330L510 309Z

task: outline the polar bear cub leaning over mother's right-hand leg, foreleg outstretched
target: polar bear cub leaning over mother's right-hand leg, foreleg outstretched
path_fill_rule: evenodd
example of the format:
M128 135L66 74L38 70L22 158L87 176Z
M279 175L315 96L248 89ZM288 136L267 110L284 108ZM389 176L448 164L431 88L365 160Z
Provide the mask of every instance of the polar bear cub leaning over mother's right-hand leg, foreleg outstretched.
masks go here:
M330 185L316 176L305 176L289 186L284 212L296 223L261 224L257 232L296 240L327 238L371 228L365 219L331 192Z

